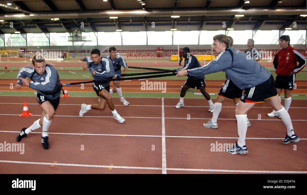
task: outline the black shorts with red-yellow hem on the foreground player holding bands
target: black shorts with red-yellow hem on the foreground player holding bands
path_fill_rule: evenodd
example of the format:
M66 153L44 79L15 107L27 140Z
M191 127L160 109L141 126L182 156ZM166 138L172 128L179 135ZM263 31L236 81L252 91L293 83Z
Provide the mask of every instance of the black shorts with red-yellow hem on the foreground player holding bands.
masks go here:
M244 103L259 103L274 96L277 96L277 90L274 78L271 75L265 82L252 88L246 88L242 94L241 101Z

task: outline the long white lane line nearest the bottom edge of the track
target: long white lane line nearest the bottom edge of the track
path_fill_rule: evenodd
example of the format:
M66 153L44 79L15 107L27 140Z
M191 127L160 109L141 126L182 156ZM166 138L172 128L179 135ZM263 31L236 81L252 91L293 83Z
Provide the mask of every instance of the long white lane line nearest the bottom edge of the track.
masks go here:
M140 167L140 166L105 166L105 165L86 165L86 164L68 164L68 163L50 163L50 162L27 162L27 161L6 161L3 163L18 163L32 165L56 165L56 166L79 166L79 167L98 167L98 168L119 168L119 169L146 169L163 170L160 167ZM307 171L258 171L258 170L224 170L224 169L184 169L184 168L166 168L166 170L175 171L203 171L203 172L228 172L228 173L280 173L280 174L306 174Z

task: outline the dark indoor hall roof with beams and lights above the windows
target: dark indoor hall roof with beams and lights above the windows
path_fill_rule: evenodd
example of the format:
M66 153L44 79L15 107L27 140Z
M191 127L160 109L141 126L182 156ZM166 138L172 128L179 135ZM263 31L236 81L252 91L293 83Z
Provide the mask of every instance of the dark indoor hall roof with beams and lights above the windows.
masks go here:
M0 1L0 34L284 30L293 24L296 30L306 30L307 17L302 14L306 0L8 0Z

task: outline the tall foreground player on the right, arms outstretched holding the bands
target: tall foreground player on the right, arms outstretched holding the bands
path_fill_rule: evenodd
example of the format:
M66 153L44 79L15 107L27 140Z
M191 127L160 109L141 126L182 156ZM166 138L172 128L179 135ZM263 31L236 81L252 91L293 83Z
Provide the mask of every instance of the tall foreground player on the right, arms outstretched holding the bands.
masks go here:
M226 151L232 154L248 153L245 145L247 111L255 103L263 102L264 99L267 99L270 105L282 117L282 122L286 125L286 138L282 142L288 144L300 141L300 138L294 134L290 115L279 101L274 78L270 71L255 60L248 60L245 53L229 47L229 42L230 39L226 35L220 34L214 36L212 48L219 53L216 59L201 68L182 70L177 74L177 76L199 76L223 70L237 87L245 90L241 101L239 101L239 105L235 109L239 139L235 146L227 148Z

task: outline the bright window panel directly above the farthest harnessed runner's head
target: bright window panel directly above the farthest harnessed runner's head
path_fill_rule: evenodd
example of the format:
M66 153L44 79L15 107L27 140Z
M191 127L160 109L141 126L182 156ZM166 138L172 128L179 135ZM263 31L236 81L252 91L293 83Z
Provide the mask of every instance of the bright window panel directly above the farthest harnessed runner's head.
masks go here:
M98 45L122 45L120 32L98 32Z

